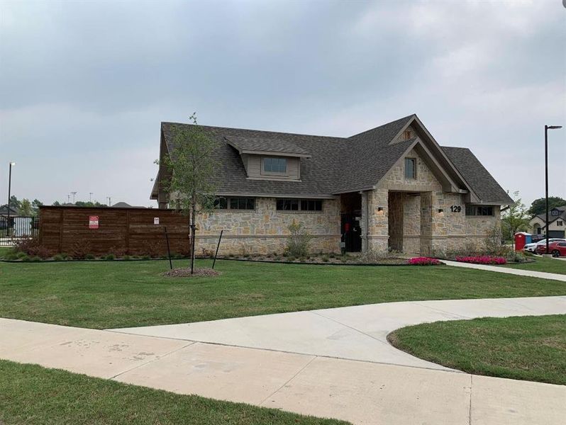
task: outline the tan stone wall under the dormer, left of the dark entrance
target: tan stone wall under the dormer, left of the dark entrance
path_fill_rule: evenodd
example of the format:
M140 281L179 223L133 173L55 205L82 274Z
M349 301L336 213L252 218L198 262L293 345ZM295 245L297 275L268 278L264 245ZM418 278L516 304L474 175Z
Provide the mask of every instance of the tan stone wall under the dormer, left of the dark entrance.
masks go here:
M323 200L322 211L279 211L275 198L255 198L255 210L214 210L199 215L195 252L214 251L223 230L222 255L281 254L293 221L313 236L311 251L340 251L339 199Z

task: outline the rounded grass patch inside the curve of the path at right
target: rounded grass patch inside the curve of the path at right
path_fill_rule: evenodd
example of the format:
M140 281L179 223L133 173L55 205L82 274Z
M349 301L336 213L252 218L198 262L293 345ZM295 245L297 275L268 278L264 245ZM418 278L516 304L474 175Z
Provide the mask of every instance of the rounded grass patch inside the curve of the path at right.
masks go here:
M418 324L398 329L388 339L448 368L566 385L566 315Z

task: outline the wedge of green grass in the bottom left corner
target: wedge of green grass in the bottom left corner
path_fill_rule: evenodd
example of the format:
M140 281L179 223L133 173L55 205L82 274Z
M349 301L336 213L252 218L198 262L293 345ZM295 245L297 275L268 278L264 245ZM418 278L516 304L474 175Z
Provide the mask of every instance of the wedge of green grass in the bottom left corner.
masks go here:
M0 376L0 424L6 425L346 424L10 361L0 361Z

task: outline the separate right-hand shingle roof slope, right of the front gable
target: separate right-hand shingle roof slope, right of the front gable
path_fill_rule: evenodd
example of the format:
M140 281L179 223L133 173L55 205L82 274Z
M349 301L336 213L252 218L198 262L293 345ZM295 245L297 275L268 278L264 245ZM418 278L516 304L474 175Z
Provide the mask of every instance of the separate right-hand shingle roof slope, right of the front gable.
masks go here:
M499 183L485 169L479 159L467 147L442 147L450 161L456 166L467 183L472 186L482 203L494 205L507 205L513 200L504 191Z

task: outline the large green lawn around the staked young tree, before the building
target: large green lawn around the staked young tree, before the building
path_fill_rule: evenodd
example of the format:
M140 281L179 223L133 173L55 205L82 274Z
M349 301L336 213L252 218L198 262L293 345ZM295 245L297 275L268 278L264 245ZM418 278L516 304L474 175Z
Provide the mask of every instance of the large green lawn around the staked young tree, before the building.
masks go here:
M168 266L167 261L0 263L0 317L104 329L375 302L566 295L566 283L555 280L448 266L218 261L221 276L193 279L160 276Z

